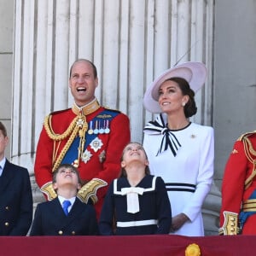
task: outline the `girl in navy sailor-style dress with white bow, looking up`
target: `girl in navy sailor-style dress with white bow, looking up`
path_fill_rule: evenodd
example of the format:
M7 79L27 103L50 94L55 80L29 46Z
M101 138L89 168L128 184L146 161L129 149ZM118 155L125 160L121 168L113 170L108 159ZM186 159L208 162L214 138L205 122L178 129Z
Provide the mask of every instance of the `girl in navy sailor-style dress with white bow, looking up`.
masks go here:
M101 235L168 234L171 223L165 183L149 174L143 146L128 143L121 159L121 176L113 180L103 203Z

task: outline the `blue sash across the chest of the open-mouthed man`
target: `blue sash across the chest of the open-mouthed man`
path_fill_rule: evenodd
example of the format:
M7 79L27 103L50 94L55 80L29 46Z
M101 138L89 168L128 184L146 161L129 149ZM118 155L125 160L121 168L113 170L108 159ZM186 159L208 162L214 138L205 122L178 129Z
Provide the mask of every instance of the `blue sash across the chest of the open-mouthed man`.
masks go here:
M101 113L92 119L88 124L88 131L85 134L84 150L88 145L98 136L98 134L110 133L110 123L113 118L115 118L119 112L104 109ZM94 131L90 133L89 131ZM68 148L61 164L72 164L74 160L78 159L78 148L79 148L80 137L77 136L70 148ZM83 152L84 152L83 150Z

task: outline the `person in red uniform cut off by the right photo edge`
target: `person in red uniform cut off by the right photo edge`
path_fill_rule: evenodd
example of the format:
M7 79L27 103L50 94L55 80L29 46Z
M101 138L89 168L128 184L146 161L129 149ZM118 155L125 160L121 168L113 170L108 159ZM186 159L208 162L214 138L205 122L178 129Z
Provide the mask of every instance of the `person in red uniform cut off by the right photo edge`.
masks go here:
M234 144L224 171L219 235L256 235L256 131Z

